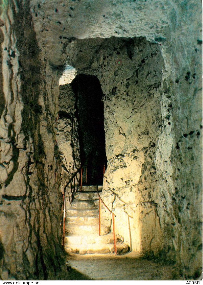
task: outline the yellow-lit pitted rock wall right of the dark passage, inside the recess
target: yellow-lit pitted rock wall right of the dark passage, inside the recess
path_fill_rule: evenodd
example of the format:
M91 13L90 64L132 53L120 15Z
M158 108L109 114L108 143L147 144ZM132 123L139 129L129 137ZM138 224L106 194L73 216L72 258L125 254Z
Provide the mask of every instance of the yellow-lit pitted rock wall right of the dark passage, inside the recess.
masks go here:
M114 198L112 209L118 233L131 250L142 254L162 248L157 202L152 193L156 187L155 152L162 128L163 60L159 46L145 40L130 40L126 46L126 51L121 51L123 66L116 70L120 74L112 77L105 98L109 160L104 188Z

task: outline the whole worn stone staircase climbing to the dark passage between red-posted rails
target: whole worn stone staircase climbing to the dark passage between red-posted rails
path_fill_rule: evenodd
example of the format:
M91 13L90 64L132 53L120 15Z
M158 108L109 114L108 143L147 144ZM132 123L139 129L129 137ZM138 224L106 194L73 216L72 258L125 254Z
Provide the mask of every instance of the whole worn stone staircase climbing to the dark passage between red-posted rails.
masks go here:
M98 192L102 186L98 186ZM66 211L65 249L72 254L110 254L114 252L114 237L109 227L99 236L99 196L97 186L82 186L76 192L71 208ZM129 251L122 237L116 236L117 254Z

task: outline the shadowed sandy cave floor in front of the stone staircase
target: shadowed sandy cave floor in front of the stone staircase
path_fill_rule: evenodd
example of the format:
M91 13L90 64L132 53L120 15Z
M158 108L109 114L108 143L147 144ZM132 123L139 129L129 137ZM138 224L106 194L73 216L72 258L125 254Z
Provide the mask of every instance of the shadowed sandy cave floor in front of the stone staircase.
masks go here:
M184 280L177 268L126 255L73 255L68 258L71 280Z

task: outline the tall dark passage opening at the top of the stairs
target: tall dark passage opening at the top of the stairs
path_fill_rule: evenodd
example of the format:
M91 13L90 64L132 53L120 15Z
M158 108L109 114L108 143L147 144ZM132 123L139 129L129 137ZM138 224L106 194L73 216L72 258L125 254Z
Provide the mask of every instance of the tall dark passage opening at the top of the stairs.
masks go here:
M76 95L82 182L83 185L102 185L107 160L101 85L96 76L85 74L76 76L71 85Z

